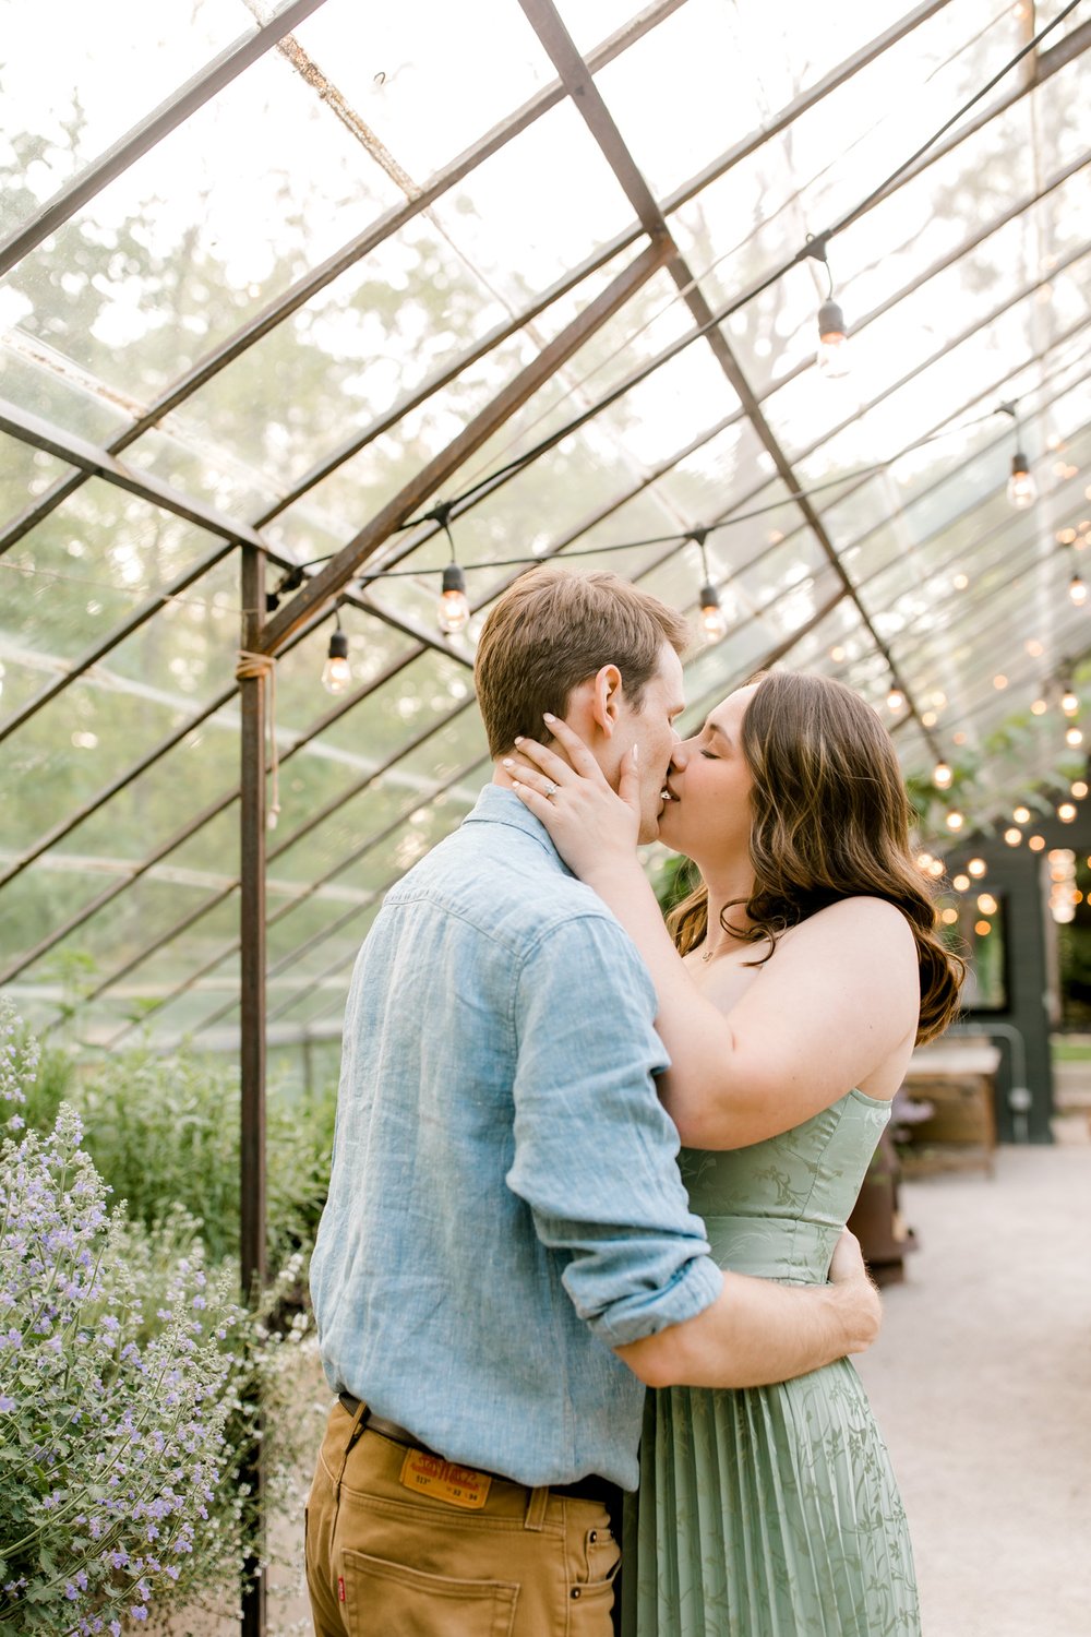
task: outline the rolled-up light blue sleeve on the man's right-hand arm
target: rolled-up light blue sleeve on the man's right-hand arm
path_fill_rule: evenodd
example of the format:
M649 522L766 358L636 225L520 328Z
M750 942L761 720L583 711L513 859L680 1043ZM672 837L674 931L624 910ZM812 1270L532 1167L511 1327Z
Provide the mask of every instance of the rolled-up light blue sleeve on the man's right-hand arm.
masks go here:
M723 1274L677 1169L654 1074L656 995L608 912L571 917L525 954L515 985L515 1156L507 1185L564 1288L608 1347L710 1306Z

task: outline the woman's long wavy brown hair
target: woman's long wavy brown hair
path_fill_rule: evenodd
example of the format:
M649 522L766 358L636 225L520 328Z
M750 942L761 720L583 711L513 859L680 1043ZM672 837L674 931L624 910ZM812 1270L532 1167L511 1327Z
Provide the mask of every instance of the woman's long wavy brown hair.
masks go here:
M909 850L911 809L890 733L851 688L805 671L769 671L743 717L743 755L754 781L749 928L721 915L746 943L767 940L762 966L788 927L839 899L887 899L913 928L921 967L918 1044L959 1012L965 963L936 933L936 905ZM731 905L726 907L728 910ZM667 917L685 954L707 933L698 886Z

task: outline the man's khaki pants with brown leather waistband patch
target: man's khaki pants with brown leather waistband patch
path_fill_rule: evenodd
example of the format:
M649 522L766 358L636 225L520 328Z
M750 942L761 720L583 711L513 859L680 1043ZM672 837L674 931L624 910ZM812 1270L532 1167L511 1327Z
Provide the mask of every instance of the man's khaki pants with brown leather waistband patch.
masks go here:
M438 1470L353 1426L334 1405L308 1501L316 1637L610 1637L605 1506Z

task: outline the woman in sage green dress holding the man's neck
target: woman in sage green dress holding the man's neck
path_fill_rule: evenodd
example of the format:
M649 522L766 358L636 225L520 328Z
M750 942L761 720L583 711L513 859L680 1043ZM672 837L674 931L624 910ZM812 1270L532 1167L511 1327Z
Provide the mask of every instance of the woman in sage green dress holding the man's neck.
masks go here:
M890 735L823 676L769 673L718 706L664 787L659 837L702 876L672 943L636 859L635 760L615 796L548 725L568 761L522 740L512 778L651 969L661 1095L713 1256L823 1282L913 1046L950 1021L963 976L909 855ZM905 1513L847 1359L780 1387L648 1395L623 1630L919 1632Z

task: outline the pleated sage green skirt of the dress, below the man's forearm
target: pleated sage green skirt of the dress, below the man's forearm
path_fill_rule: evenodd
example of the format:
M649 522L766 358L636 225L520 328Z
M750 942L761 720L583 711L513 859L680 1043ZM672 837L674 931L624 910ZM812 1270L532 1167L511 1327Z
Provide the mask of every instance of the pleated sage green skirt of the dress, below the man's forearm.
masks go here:
M648 1393L623 1637L919 1637L905 1509L847 1359Z

